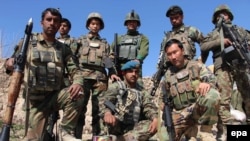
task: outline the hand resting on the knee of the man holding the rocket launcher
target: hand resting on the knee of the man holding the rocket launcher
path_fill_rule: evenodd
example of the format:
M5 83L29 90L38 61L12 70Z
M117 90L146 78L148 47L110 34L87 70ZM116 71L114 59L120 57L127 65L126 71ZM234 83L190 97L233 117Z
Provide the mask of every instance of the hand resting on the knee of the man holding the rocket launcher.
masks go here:
M79 84L72 84L68 92L70 93L70 99L76 100L83 95L83 88Z

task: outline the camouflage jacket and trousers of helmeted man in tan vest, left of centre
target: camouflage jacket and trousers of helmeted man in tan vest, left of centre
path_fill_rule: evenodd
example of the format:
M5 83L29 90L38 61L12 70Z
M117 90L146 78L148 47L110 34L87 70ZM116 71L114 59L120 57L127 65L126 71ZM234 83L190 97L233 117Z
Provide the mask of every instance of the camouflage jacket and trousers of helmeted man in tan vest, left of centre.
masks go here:
M78 42L71 46L71 50L73 53L81 53L80 50L84 48L85 46L82 44L82 40L93 40L94 42L102 42L102 44L105 44L105 51L103 55L107 55L104 57L109 56L110 52L110 46L109 44L104 41L99 35L98 36L92 36L91 34L87 34L83 37L80 37L78 39ZM79 51L77 51L79 50ZM79 57L81 54L77 55L76 62L80 62L81 58ZM87 111L87 103L91 96L92 100L92 121L99 121L99 100L98 97L101 93L107 90L108 87L108 76L105 70L105 67L97 66L97 65L87 65L87 64L79 64L79 67L81 69L81 75L84 77L84 100L82 102L83 110L81 113L81 116L79 118L77 128L76 128L76 137L81 138L82 137L82 128L84 126L85 121L85 113ZM93 122L93 134L96 135L100 131L99 129L99 122Z

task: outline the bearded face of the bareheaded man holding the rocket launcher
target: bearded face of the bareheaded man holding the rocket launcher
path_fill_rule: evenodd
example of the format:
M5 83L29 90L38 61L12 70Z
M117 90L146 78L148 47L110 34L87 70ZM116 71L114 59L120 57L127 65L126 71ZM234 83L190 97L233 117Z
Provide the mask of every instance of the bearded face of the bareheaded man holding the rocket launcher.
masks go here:
M47 35L55 36L61 25L61 19L58 16L46 13L41 21L43 32Z

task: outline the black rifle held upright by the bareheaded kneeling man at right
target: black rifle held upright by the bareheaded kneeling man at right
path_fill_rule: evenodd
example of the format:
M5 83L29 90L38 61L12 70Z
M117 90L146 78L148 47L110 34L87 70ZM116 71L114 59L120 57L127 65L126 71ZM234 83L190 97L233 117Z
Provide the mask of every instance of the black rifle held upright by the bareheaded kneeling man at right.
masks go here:
M164 102L164 111L163 111L163 120L164 125L167 128L169 141L174 141L175 139L175 130L173 125L173 118L172 118L172 101L168 96L166 85L162 84L162 93L163 93L163 102Z

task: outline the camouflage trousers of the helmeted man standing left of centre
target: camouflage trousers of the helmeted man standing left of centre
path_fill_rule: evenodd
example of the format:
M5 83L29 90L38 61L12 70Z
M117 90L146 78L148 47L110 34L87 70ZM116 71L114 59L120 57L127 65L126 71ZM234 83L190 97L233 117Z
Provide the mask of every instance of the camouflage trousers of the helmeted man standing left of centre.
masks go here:
M108 82L107 81L97 81L94 79L85 79L84 80L84 98L82 99L81 106L82 112L80 114L79 120L77 122L76 127L76 137L82 138L83 126L85 125L85 114L87 111L87 104L91 96L92 102L92 133L93 135L97 135L100 132L100 124L99 122L99 99L98 96L107 90Z

